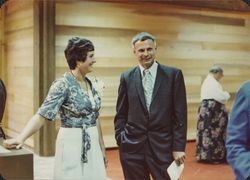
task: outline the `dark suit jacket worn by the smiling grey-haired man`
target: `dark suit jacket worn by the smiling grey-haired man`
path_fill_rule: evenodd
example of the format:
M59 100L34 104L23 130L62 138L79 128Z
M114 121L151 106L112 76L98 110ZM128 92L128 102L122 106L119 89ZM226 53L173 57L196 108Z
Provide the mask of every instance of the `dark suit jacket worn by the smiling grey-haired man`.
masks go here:
M120 152L136 155L151 148L155 158L169 162L172 151L185 151L187 102L181 70L158 65L150 112L139 66L123 73L116 111L115 138ZM150 148L145 148L146 143Z

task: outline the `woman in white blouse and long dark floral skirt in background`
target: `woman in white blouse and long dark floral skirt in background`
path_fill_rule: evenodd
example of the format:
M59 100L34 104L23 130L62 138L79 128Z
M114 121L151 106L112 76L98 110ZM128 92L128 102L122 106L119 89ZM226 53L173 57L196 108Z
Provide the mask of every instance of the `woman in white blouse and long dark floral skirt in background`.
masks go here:
M230 95L219 83L222 77L222 68L213 66L201 86L196 136L196 158L201 162L218 163L226 158L228 114L225 103Z

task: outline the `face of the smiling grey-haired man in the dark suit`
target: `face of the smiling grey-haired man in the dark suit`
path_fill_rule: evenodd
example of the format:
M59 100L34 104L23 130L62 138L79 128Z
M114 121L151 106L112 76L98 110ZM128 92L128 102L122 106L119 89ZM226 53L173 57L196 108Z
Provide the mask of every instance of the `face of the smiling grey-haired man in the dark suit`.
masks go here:
M133 50L142 67L148 69L154 63L156 44L151 39L137 41Z

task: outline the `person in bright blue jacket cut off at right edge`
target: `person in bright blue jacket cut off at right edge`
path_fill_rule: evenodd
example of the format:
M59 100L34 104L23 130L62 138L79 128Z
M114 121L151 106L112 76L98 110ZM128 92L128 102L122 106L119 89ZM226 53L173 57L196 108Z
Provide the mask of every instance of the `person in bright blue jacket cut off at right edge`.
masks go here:
M239 89L227 127L227 160L237 180L250 180L250 81Z

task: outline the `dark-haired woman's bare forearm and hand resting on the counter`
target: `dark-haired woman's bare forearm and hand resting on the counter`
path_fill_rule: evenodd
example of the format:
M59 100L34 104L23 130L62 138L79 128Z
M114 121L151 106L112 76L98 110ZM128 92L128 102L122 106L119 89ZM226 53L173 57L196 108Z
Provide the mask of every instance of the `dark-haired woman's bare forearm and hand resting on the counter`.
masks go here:
M37 132L43 126L44 122L44 117L40 116L39 114L35 114L26 124L22 132L16 138L5 140L3 142L3 146L8 149L21 148L21 146L24 144L24 141Z

